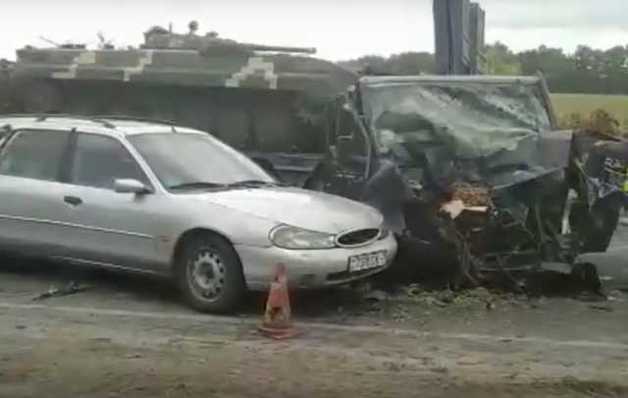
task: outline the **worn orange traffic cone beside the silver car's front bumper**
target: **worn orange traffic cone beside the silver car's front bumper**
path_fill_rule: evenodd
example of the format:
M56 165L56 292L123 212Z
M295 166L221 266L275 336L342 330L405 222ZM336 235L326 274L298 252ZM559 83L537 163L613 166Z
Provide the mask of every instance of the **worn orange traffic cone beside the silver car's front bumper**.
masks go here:
M259 331L267 337L276 340L289 339L299 335L299 331L292 325L290 297L288 295L288 277L286 267L277 265L275 280L270 284L264 321L258 327Z

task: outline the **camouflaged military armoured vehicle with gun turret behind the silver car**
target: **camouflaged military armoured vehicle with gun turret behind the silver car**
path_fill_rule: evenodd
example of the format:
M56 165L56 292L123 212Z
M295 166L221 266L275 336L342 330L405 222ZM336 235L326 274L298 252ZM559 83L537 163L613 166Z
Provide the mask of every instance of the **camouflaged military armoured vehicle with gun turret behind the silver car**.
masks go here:
M322 105L357 76L313 48L240 43L155 26L138 47L70 44L17 51L18 111L176 121L262 152L316 152ZM287 140L298 131L298 138ZM293 137L294 138L294 137Z

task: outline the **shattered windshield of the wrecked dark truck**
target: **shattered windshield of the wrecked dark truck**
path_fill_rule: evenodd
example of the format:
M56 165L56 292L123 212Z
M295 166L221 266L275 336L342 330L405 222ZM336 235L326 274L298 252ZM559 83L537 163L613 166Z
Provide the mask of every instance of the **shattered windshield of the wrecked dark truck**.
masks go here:
M550 129L540 90L524 84L387 83L364 88L383 152L444 145L460 158L513 151Z

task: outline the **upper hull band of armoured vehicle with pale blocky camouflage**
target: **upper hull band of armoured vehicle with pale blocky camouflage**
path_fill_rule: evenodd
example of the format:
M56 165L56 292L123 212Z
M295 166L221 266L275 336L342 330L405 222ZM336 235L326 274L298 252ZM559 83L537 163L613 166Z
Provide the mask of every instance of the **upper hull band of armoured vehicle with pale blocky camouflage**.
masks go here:
M303 91L328 97L355 82L352 72L303 55L239 47L195 49L35 49L17 51L16 79L96 80L192 87Z

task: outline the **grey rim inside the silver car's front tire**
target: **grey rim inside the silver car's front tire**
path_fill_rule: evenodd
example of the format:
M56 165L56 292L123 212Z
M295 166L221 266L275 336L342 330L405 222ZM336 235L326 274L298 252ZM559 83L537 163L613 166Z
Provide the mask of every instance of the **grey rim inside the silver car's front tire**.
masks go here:
M198 252L189 264L189 279L196 293L206 300L216 300L223 293L225 265L211 249Z

